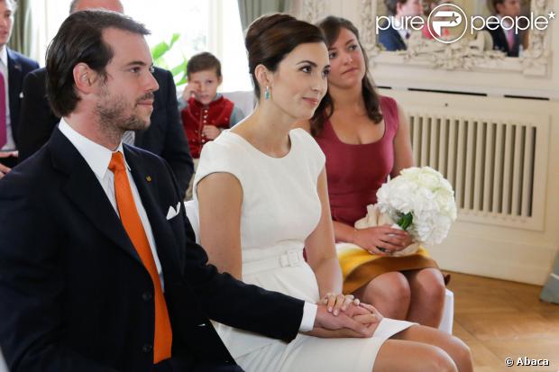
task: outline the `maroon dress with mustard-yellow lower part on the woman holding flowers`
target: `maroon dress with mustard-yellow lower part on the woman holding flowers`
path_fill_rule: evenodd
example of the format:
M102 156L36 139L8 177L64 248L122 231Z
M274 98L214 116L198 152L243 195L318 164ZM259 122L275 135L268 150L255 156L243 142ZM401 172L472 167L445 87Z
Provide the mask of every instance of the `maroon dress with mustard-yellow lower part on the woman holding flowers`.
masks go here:
M332 219L353 226L367 214L367 205L377 203L377 190L394 167L394 138L399 129L398 105L394 99L380 96L384 134L379 141L348 144L340 141L332 123L325 122L316 136L326 157L326 177ZM391 271L438 268L425 249L403 257L381 257L364 252L339 255L344 272L344 293L366 285L372 278ZM366 255L366 257L363 257Z

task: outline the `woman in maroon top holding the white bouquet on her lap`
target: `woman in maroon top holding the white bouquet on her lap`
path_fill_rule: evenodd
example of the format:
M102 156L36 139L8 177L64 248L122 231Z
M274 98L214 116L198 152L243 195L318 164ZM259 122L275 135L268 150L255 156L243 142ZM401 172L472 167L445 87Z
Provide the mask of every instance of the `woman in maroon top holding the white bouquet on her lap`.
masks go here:
M359 262L340 256L342 267L352 268L344 278L344 292L390 318L437 327L444 278L426 250L390 257L390 251L410 244L407 232L388 225L353 228L367 214L367 204L377 202L377 190L387 177L413 166L408 122L396 101L375 92L353 23L330 16L317 25L328 41L331 71L328 93L307 129L325 152L335 239L371 252Z

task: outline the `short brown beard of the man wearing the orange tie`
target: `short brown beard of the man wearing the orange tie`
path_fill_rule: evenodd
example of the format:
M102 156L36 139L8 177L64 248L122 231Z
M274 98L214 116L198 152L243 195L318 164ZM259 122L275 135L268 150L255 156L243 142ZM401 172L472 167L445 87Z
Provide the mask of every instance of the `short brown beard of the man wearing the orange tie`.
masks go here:
M125 115L127 107L122 96L111 96L106 91L103 92L103 95L102 101L96 104L96 115L99 124L106 131L121 132L122 135L126 131L142 131L150 126L150 119L143 120L136 113ZM153 94L149 93L142 96L137 102L152 96Z

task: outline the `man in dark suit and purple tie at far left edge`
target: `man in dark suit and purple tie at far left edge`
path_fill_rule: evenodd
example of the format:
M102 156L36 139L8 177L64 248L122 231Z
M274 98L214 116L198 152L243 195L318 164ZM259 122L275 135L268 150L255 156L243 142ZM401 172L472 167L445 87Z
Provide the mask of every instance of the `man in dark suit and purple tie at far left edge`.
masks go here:
M39 68L36 61L6 46L12 35L15 7L14 0L0 0L0 178L17 163L23 77Z

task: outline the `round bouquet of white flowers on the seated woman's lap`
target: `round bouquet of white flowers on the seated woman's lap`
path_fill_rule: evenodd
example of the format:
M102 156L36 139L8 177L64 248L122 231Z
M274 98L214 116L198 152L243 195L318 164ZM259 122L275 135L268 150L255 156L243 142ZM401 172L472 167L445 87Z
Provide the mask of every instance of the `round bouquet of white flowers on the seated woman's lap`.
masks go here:
M446 238L452 222L456 220L454 190L433 168L407 168L398 177L380 186L377 204L369 205L368 211L369 214L380 213L383 222L396 222L392 227L408 231L414 240L415 244L395 252L393 256L413 254L419 244L439 244ZM367 221L365 217L356 222L355 227L366 227L363 222Z

